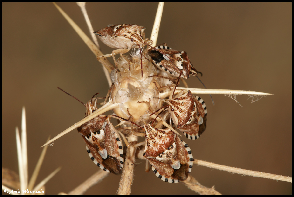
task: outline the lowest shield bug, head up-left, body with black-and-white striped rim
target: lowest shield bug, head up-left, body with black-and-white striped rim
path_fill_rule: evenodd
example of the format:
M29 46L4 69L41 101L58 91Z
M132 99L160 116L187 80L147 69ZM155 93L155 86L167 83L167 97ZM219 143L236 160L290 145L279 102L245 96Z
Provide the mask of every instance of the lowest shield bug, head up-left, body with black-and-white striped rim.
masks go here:
M169 183L188 178L193 166L189 146L170 129L157 129L145 124L146 145L143 153L156 176Z

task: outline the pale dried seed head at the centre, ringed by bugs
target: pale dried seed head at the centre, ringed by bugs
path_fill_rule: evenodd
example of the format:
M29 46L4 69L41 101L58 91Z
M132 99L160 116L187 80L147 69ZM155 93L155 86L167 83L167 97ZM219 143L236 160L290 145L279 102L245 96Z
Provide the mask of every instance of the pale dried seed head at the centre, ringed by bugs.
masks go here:
M111 98L113 103L119 103L120 107L114 109L114 113L122 118L128 119L133 117L133 122L143 125L143 120L149 121L149 105L151 108L157 109L159 99L153 98L158 96L156 85L156 77L150 77L157 74L153 64L143 58L143 78L141 77L141 63L132 62L131 56L125 57L128 62L120 57L117 60L119 72L111 73L111 79L114 86L111 89Z

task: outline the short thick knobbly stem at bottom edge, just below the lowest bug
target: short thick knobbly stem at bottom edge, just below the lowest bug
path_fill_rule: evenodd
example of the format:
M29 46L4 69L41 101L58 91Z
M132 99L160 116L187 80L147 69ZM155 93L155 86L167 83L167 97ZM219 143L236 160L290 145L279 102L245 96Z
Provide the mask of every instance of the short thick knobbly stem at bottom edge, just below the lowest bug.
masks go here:
M195 191L199 194L221 194L218 191L212 188L205 187L201 185L193 176L189 175L188 179L186 181L181 181L184 185L186 185L189 189Z

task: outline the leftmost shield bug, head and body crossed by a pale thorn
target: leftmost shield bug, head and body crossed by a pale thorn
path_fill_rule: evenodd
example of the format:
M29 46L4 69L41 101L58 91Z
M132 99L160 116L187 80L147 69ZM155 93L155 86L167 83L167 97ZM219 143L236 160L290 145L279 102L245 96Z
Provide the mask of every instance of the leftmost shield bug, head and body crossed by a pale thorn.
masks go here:
M61 88L59 89L62 90ZM93 104L94 96L86 105L76 97L72 97L86 106L86 116L88 116L97 109L97 100ZM121 173L123 167L123 146L116 129L110 123L107 116L100 115L89 120L78 127L78 133L82 135L86 143L86 149L91 160L98 167L116 175Z

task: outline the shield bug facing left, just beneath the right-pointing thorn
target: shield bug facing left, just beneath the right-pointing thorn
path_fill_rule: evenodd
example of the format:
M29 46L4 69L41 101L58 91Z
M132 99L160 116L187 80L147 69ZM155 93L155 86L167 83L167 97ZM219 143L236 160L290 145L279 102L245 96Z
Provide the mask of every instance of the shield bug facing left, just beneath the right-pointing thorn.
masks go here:
M187 138L196 140L206 129L206 104L189 90L177 98L163 99L169 105L173 123Z

